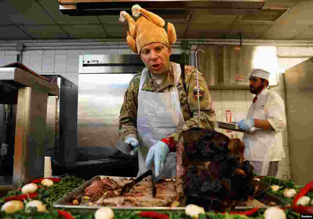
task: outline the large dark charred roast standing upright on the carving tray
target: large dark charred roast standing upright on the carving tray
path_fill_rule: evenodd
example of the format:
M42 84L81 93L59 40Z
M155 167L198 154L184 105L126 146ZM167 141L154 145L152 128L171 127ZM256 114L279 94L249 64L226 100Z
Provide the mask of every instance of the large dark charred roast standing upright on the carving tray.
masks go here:
M215 130L182 132L176 146L177 201L205 210L231 208L253 195L253 167L244 160L244 143Z

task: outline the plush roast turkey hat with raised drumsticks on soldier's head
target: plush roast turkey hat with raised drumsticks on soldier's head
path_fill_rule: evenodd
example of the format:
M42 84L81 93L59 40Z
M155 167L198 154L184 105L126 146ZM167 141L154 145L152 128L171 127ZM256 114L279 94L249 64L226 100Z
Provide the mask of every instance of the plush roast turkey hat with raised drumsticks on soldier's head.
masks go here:
M134 53L140 53L141 48L149 43L163 43L171 46L176 42L176 31L172 23L167 23L167 33L163 28L165 21L158 15L149 12L139 5L131 8L132 14L140 18L135 22L126 12L121 11L120 21L128 22L129 31L127 31L127 44Z

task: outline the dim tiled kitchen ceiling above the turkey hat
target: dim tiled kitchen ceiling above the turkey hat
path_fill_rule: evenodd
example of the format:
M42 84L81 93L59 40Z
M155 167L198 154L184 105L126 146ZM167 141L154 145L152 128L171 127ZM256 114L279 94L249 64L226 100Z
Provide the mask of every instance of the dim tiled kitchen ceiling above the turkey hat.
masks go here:
M291 8L274 24L265 21L242 20L233 23L236 16L244 15L248 10L235 8L236 4L234 4L234 8L204 8L210 4L212 2L199 2L199 8L191 9L191 13L194 12L191 16L191 24L188 24L187 18L171 18L172 15L163 17L166 22L174 24L177 38L222 39L225 37L223 34L232 37L232 34L242 33L244 39L313 40L313 31L309 29L313 24L313 16L311 16L313 1L267 0L264 8ZM223 6L224 3L219 4ZM272 12L264 10L259 13ZM255 14L250 14L253 19ZM246 16L247 19L248 17ZM128 24L120 22L118 18L119 14L110 16L65 15L59 11L57 0L0 1L0 28L2 30L0 40L126 38ZM137 18L133 18L135 21L137 20ZM265 16L262 19L269 18ZM19 27L13 26L14 23ZM104 24L105 30L100 23ZM232 23L234 26L229 27L229 24ZM64 33L58 24L70 36ZM185 36L187 25L190 27ZM268 30L264 30L269 25L272 26ZM234 37L238 39L237 35Z

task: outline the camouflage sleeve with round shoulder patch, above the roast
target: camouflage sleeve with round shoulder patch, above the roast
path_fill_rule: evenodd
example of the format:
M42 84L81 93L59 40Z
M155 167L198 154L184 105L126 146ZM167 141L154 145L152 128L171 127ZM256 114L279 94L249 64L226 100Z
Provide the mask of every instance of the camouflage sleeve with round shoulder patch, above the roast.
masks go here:
M182 131L191 129L193 127L199 127L198 117L198 96L197 96L197 69L193 66L185 66L185 83L187 94L187 104L189 106L190 115L184 114L185 125L176 133L171 136L174 141L177 142L179 135ZM209 92L207 83L203 77L203 74L198 74L199 79L199 100L200 100L200 127L204 129L214 129L215 126L215 112L212 108L212 99ZM182 101L182 100L181 100ZM182 106L183 107L183 106ZM172 150L172 148L171 148Z

